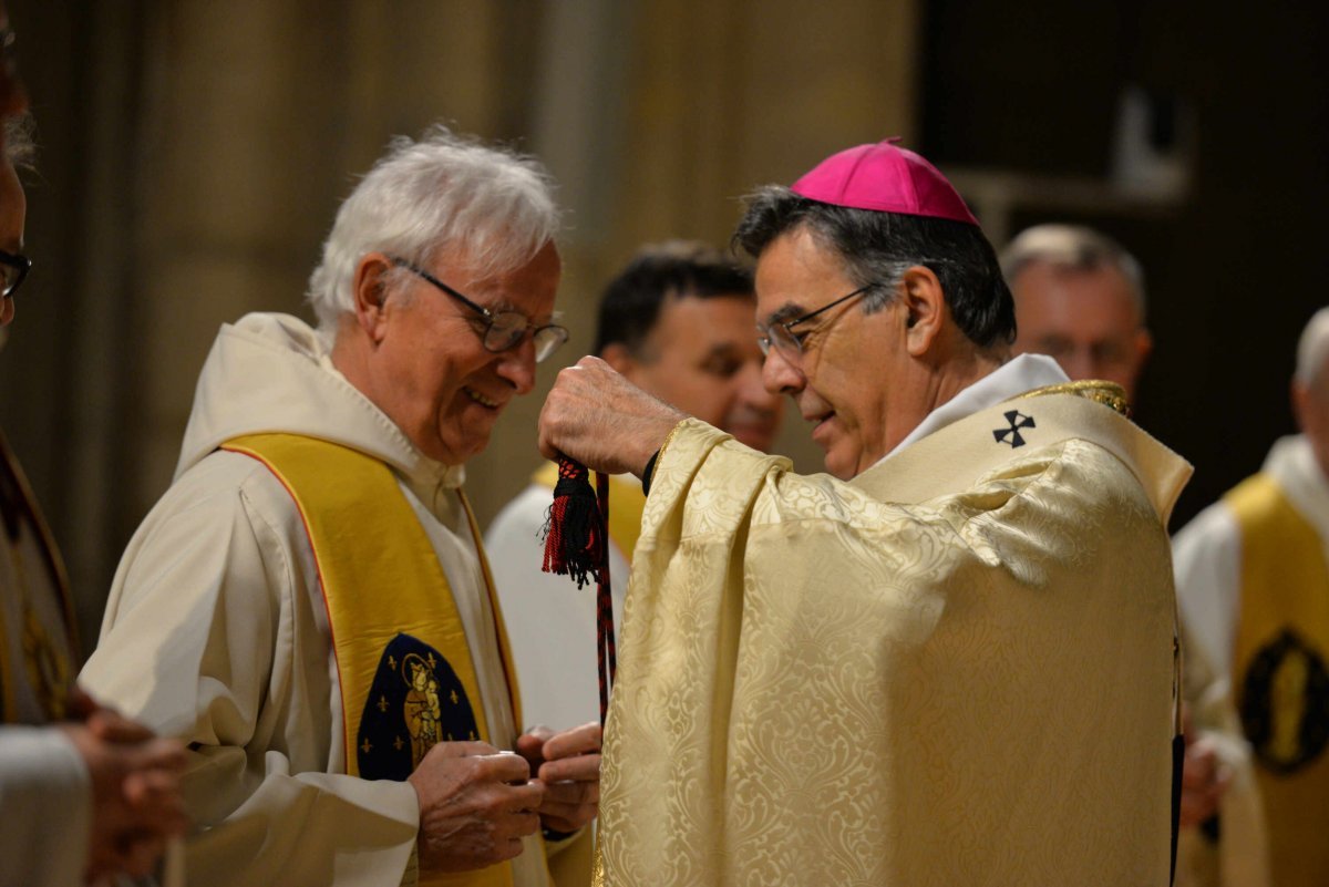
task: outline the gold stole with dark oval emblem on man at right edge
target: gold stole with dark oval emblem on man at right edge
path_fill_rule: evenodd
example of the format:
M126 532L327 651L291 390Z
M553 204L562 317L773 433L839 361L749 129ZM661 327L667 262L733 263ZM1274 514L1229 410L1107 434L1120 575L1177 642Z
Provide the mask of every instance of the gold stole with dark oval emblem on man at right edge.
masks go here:
M1277 884L1329 879L1329 567L1324 543L1273 478L1224 503L1241 528L1241 604L1232 683L1251 741ZM1317 710L1318 709L1318 710Z

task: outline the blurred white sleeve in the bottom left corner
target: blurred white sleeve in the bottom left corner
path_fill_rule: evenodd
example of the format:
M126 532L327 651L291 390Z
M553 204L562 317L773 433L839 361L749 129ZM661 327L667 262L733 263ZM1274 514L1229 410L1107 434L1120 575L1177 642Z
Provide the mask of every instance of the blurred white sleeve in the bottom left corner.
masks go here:
M0 726L0 887L81 884L92 785L52 726Z

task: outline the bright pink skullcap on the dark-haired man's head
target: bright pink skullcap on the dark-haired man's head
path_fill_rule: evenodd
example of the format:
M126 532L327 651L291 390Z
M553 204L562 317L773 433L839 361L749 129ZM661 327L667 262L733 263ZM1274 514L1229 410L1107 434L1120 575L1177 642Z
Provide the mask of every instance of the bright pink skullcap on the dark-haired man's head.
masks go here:
M889 138L832 154L797 182L799 197L855 210L901 212L978 224L937 167Z

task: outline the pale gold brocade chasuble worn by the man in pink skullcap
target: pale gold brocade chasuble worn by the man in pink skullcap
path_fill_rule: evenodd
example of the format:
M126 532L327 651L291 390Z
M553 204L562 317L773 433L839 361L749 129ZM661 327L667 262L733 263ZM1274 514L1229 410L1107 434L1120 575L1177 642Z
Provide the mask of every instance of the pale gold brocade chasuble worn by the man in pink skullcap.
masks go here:
M852 483L686 421L633 562L598 883L1166 884L1188 475L1070 393Z

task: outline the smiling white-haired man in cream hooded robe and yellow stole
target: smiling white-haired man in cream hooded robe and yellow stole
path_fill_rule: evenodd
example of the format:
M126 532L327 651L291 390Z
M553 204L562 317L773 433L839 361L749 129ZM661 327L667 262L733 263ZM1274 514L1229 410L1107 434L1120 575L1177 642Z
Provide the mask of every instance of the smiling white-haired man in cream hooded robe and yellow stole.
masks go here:
M599 726L518 737L461 491L566 339L550 187L444 127L396 139L324 243L318 329L218 335L84 669L189 741L191 884L540 887L541 827L593 818Z

